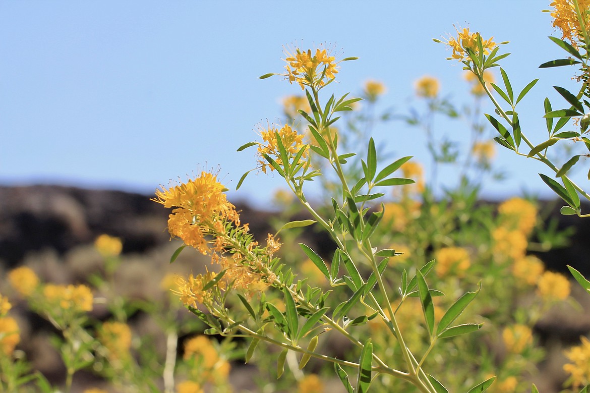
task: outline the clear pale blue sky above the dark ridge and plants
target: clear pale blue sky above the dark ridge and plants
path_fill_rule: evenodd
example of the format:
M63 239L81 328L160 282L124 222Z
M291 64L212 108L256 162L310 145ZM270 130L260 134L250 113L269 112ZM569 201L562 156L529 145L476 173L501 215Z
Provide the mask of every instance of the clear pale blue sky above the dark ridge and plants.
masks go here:
M549 1L3 1L0 2L0 184L58 183L150 193L169 179L221 166L235 188L254 168L255 125L281 116L280 97L299 94L280 77L281 46L336 42L345 56L336 93L368 78L388 86L383 107L407 109L413 82L440 78L442 94L461 101L461 67L433 37L469 25L484 38L511 41L503 61L516 89L541 78L523 102L533 140L546 136L542 101L551 86L572 86L569 70L537 66L562 57L548 35ZM309 11L306 11L309 10ZM565 106L565 105L564 105ZM556 108L557 109L557 108ZM486 111L490 112L488 105ZM463 129L447 130L452 133ZM422 133L389 123L375 139L396 156L427 162ZM544 166L502 152L510 176L486 194L525 188L551 195L536 175ZM516 173L514 168L523 171ZM453 177L452 173L445 176ZM582 171L579 178L585 178ZM264 204L281 185L250 175L234 199Z

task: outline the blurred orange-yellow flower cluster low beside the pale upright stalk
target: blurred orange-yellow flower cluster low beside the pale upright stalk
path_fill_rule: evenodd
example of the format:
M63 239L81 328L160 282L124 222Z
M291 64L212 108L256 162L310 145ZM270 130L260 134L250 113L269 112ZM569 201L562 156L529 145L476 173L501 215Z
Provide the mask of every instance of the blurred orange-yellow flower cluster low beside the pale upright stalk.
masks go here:
M227 379L230 374L230 363L219 357L219 353L211 340L205 336L196 336L185 343L183 359L198 365L199 377L209 381Z

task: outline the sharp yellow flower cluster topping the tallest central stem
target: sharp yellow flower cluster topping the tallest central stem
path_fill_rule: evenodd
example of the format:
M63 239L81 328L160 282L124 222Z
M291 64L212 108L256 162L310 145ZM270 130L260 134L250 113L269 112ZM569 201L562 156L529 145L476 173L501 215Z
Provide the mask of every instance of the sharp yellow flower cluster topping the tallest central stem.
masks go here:
M335 78L338 73L336 58L331 56L326 49L316 49L313 54L311 49L301 51L300 48L295 48L293 51L285 48L284 53L287 63L284 76L289 80L289 83L299 83L301 90L305 86L312 87L312 89L319 90L326 83Z

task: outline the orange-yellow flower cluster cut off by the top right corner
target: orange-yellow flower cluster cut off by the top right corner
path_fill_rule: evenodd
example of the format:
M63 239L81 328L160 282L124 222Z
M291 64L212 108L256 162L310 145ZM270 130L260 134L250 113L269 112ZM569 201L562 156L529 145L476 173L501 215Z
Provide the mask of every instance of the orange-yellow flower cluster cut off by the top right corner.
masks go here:
M584 28L588 31L590 27L590 16L587 14L590 11L590 0L578 0L579 10L584 19ZM582 33L582 26L576 14L576 8L572 0L555 0L549 4L553 7L551 17L553 18L553 27L559 28L562 31L562 40L568 40L573 47L584 41L584 34Z

